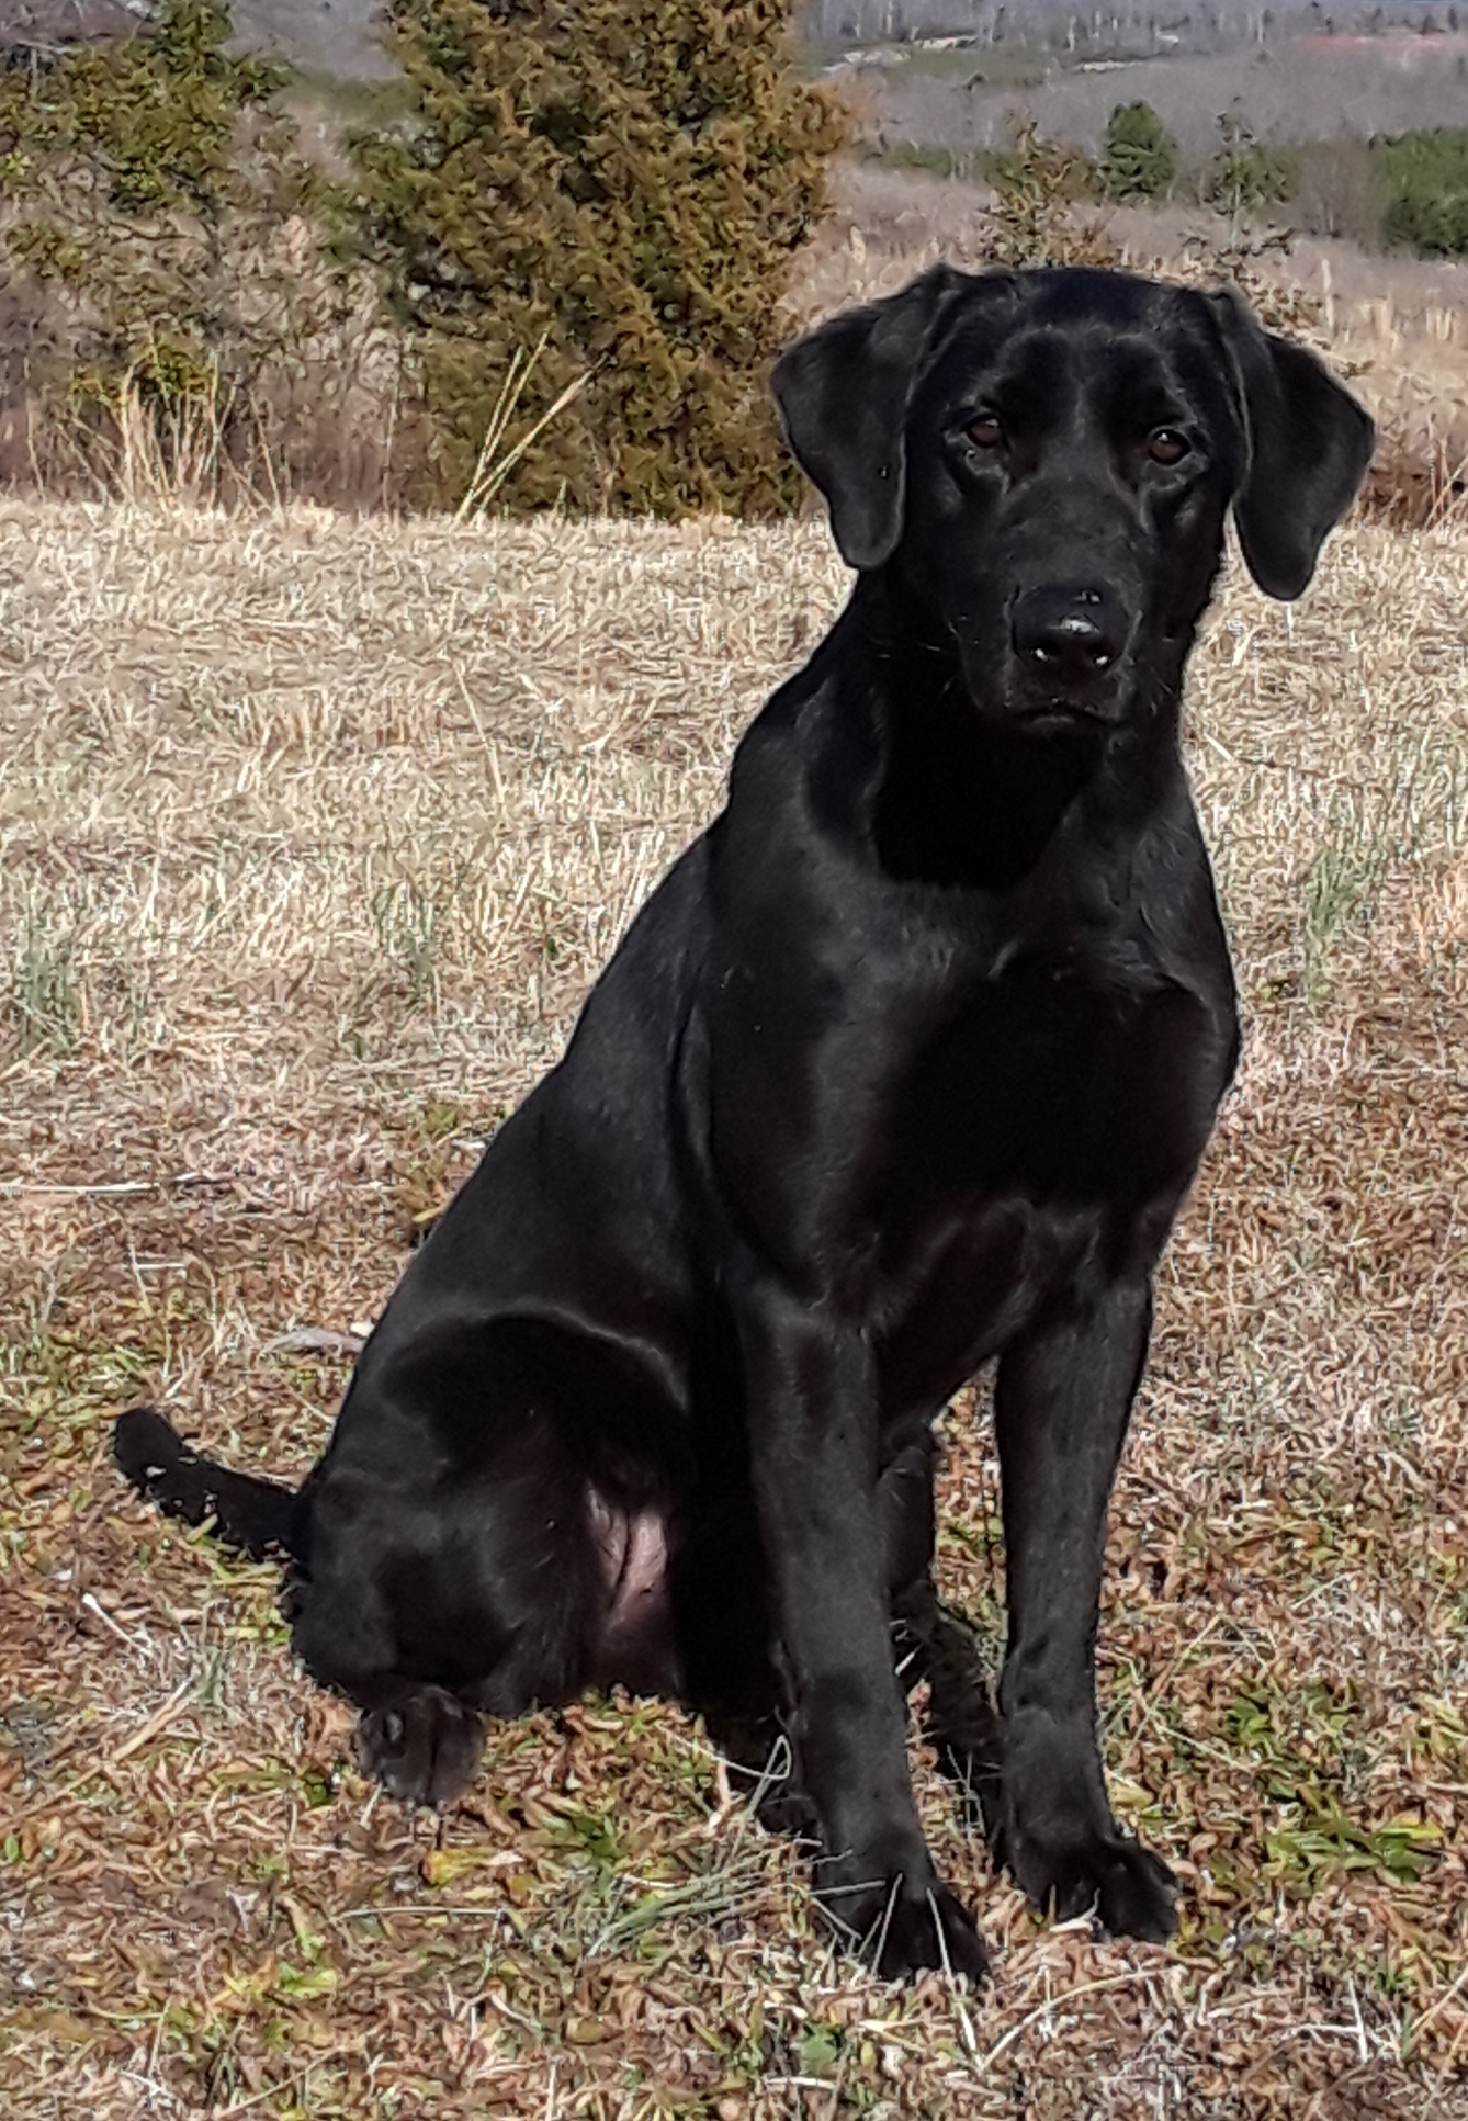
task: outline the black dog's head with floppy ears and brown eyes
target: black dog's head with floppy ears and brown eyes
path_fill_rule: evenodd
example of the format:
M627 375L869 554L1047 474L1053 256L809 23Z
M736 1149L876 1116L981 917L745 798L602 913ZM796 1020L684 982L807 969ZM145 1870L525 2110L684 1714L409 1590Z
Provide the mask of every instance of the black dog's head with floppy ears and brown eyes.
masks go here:
M1373 422L1233 293L938 265L781 356L789 445L846 562L891 566L974 704L1118 723L1175 674L1228 509L1269 596L1309 583Z

